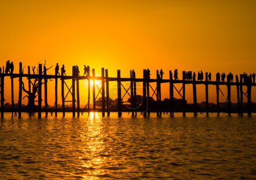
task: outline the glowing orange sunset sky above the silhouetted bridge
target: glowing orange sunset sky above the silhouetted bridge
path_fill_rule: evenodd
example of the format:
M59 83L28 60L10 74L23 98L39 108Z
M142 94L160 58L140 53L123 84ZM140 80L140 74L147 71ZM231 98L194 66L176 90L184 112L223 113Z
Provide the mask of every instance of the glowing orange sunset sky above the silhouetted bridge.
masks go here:
M1 66L252 73L255 19L256 1L1 1Z

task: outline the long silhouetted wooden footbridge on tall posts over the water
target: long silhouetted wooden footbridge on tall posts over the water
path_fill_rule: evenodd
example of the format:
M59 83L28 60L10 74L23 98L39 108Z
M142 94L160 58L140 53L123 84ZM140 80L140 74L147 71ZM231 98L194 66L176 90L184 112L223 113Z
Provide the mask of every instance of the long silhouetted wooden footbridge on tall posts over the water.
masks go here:
M159 75L159 71L156 70L156 79L150 79L148 78L147 71L143 70L143 78L136 78L135 77L135 71L130 71L130 78L121 78L121 70L117 70L117 77L111 78L108 76L108 70L101 68L101 76L95 76L95 70L92 69L92 76L80 76L76 72L76 66L73 66L72 69L72 76L64 75L64 68L61 67L61 74L58 75L57 72L55 72L55 75L47 75L47 68L42 66L42 64L39 64L38 67L38 73L31 74L30 73L30 66L28 66L28 73L24 74L22 69L22 63L19 63L19 74L14 73L5 73L2 71L0 73L1 78L1 117L3 118L5 107L4 107L4 101L5 101L5 77L10 76L11 78L11 112L12 115L16 115L18 112L18 117L21 117L22 113L22 92L23 92L23 85L22 81L23 78L26 78L28 80L28 91L31 92L31 79L36 79L38 81L38 90L36 91L38 95L38 117L40 118L42 116L42 86L44 86L44 108L45 108L45 114L46 117L48 116L48 113L51 113L51 115L55 112L55 116L57 116L57 84L58 80L61 80L61 102L62 102L62 113L63 117L65 116L65 102L72 102L72 112L73 117L80 116L80 114L83 114L84 112L90 113L90 80L93 80L92 84L92 93L93 93L93 112L96 112L96 99L98 95L101 94L101 104L102 104L102 117L105 117L105 113L107 115L110 115L110 102L109 102L109 82L117 82L117 112L118 116L120 117L122 115L122 102L125 95L129 95L131 98L131 115L137 115L137 113L141 113L146 117L147 115L150 115L150 110L147 108L149 102L149 98L152 96L156 97L156 113L157 116L162 115L162 108L161 108L161 84L162 83L169 83L170 84L170 104L168 107L168 112L170 112L170 116L174 115L174 90L179 93L180 97L182 98L183 102L183 115L186 113L186 100L185 100L185 85L186 84L192 84L193 85L193 112L194 115L197 115L198 112L198 104L197 104L197 96L196 96L196 85L197 84L204 84L205 86L205 112L208 115L209 114L209 102L208 102L208 85L215 85L216 86L216 97L217 97L217 114L220 114L220 102L219 102L219 93L220 93L220 85L226 85L228 88L227 90L227 104L228 104L228 114L231 113L231 86L235 85L237 88L237 109L238 114L242 115L243 113L246 113L248 115L251 115L251 87L256 86L256 83L252 81L251 77L246 82L243 81L243 75L240 75L240 80L238 79L238 75L236 75L236 82L232 82L230 78L228 77L226 82L221 82L219 78L216 78L216 81L209 81L208 79L208 73L205 73L205 80L196 80L195 77L193 77L191 80L185 79L185 71L183 71L183 79L177 80L173 79L172 71L170 71L170 78L169 79L162 79L162 77ZM13 79L18 78L19 79L19 88L18 88L18 105L15 106L14 104L14 82ZM55 79L55 105L53 106L53 110L51 111L51 108L48 105L47 102L47 81L49 79ZM65 82L66 80L72 80L71 87L68 87L68 84ZM80 80L88 80L88 102L84 109L80 109L80 91L79 91L79 81ZM98 85L95 83L96 80L101 81L101 88L98 87ZM130 87L125 88L122 85L122 82L130 82ZM136 83L142 82L143 86L143 96L142 96L142 102L141 104L138 104L137 102L137 85ZM156 88L153 89L150 83L156 83ZM175 84L182 84L182 87L180 90L178 90L175 87ZM98 94L96 95L96 87L98 88ZM68 91L65 93L64 89L68 89ZM150 95L150 88L152 91L152 95ZM243 88L247 88L247 92L243 92ZM125 90L125 95L122 96L121 89ZM182 90L182 93L181 93ZM71 93L72 95L72 101L67 101L66 98L68 94ZM222 93L222 92L221 92ZM247 97L247 110L243 109L243 95ZM77 108L76 108L77 106ZM138 111L138 106L141 108L141 110ZM30 112L31 115L31 112Z

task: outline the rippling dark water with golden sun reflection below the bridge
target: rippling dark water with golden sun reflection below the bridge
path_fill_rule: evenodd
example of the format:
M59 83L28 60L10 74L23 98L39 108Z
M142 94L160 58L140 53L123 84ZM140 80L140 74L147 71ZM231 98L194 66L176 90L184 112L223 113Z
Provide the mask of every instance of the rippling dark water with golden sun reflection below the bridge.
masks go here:
M71 115L5 114L1 179L256 179L256 114Z

